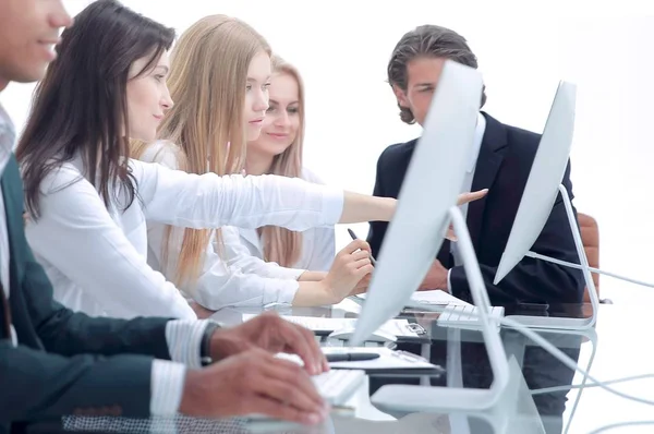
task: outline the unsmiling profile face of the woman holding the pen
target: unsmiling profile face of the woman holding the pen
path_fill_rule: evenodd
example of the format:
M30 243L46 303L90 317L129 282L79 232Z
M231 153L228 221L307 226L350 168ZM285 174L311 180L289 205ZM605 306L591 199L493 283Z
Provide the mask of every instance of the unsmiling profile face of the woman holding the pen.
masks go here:
M270 85L270 56L258 52L247 68L247 84L245 87L245 104L243 119L246 122L246 140L256 140L262 133L262 126L268 109L268 87Z

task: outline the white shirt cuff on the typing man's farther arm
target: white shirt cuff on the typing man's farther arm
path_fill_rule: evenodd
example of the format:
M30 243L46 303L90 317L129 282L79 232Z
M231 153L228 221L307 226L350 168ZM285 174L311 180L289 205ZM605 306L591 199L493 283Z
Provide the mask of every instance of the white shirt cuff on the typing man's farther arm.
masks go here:
M191 367L202 367L202 335L209 320L173 320L166 324L166 341L170 359Z

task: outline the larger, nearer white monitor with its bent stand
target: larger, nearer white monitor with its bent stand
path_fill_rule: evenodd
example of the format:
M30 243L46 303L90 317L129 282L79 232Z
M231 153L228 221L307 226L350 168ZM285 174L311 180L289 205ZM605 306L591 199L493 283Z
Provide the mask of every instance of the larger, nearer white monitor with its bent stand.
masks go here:
M372 397L382 411L484 413L497 405L509 385L507 355L489 318L484 279L468 226L457 206L472 157L482 87L476 70L446 62L350 343L361 345L410 304L411 296L436 258L451 219L494 382L489 389L387 385Z

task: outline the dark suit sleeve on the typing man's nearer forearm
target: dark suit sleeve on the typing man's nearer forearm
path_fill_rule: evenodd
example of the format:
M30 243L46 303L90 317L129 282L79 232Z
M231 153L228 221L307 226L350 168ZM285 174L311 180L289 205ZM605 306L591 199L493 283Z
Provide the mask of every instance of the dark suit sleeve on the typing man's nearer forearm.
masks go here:
M0 342L0 423L109 410L150 413L152 358L64 358Z

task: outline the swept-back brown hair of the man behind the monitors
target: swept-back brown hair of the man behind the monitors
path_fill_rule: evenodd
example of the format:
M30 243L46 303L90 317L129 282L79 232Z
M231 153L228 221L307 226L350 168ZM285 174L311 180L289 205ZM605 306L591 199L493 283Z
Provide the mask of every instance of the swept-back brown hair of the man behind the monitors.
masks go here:
M396 45L388 61L388 83L407 91L407 65L416 58L445 58L467 67L477 68L476 56L468 46L465 38L455 31L437 25L422 25L404 34ZM486 93L482 93L483 107L486 103ZM405 123L414 123L415 118L407 107L400 108L400 118Z

